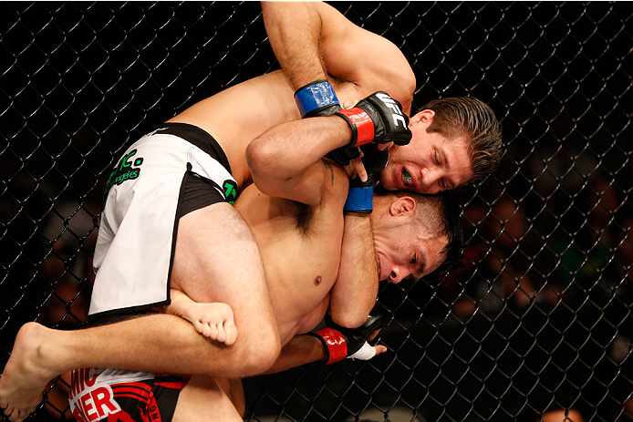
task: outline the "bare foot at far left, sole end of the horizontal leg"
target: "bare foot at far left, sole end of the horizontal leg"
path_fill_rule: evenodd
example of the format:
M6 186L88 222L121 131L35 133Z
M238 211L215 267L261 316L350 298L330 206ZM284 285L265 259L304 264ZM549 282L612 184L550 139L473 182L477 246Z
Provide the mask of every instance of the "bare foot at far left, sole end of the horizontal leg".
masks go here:
M0 378L0 407L12 422L21 422L42 401L42 392L58 374L42 364L40 345L48 328L28 323L20 328L5 372Z

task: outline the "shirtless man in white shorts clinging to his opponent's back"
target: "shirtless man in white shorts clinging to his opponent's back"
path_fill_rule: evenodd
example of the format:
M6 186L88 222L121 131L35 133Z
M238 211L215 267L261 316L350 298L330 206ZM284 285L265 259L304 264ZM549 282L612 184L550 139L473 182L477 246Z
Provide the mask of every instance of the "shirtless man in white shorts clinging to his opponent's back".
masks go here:
M226 347L205 341L192 330L190 324L165 314L102 326L99 331L85 329L72 333L51 332L38 324L26 324L16 337L11 359L0 378L0 407L5 409L5 414L11 420L24 419L40 402L41 392L47 382L71 368L99 366L183 374L248 376L264 371L275 362L280 342L265 285L263 264L252 233L233 207L225 202L226 196L230 200L234 190L243 189L251 180L244 150L265 129L301 117L294 94L296 88L310 81L327 79L334 87L340 104L354 102L380 89L386 90L400 101L402 111L408 115L415 77L396 46L381 36L353 25L329 5L318 2L282 5L265 2L263 9L266 30L275 48L275 55L285 71L292 67L295 72L286 73L287 78L281 71L255 77L183 111L172 118L168 125L144 139L147 142L145 145L150 142L161 143L165 137L171 139L159 149L148 152L156 160L150 162L147 159L150 155L143 157L140 149L133 154L133 149L127 151L127 158L120 161L120 167L113 173L107 208L109 203L114 203L110 199L119 195L117 192L129 190L132 184L143 180L151 166L159 166L154 169L161 172L168 168L163 167L164 164L178 165L178 169L171 170L171 177L180 174L182 180L187 169L182 167L180 159L168 160L173 154L181 154L181 158L191 157L194 160L192 171L205 179L214 179L219 190L210 184L196 183L200 180L195 177L188 178L192 184L185 184L187 192L183 193L185 201L182 201L185 208L176 210L176 200L181 198L179 192L176 194L170 190L168 193L161 189L161 185L143 180L138 186L145 185L146 189L134 196L136 200L145 198L145 201L139 202L142 210L133 208L138 212L130 214L139 222L119 224L120 214L104 211L99 231L102 241L99 242L96 256L96 261L100 263L96 282L99 297L96 300L93 298L91 311L95 315L105 315L116 311L118 307L125 307L125 312L129 312L167 304L168 287L179 288L199 303L229 304L240 333L235 343ZM300 54L294 54L293 48L299 48ZM315 63L316 66L310 66ZM363 66L358 66L359 63ZM248 113L242 112L244 98L249 98ZM499 143L499 130L492 110L473 98L458 98L458 101L449 104L450 107L425 109L418 114L420 118L411 118L413 138L410 145L398 150L391 149L393 153L388 167L383 170L383 173L400 176L385 178L383 186L395 188L400 180L409 189L446 189L476 178L477 169L492 168L480 165L481 162L498 162L494 153L482 152L488 147L480 149L481 145L492 145L492 151L498 149L494 146ZM444 111L448 111L448 114ZM441 113L444 113L442 118L439 117ZM433 122L440 124L432 129ZM473 143L473 139L478 139L478 143ZM482 143L482 139L489 142ZM415 148L411 148L413 146ZM406 153L407 149L410 153ZM490 160L477 157L488 157ZM389 170L389 166L394 170ZM135 169L140 170L138 179L123 181L119 177L124 172L130 174L129 171L137 174ZM146 169L148 171L143 172ZM433 170L432 173L437 175L433 176L435 182L420 183L420 180L430 180L424 178L425 170L426 173ZM459 178L453 178L457 174ZM161 178L158 179L156 182L160 183ZM122 181L120 185L117 184L119 180ZM173 186L172 181L168 182L170 186ZM202 195L198 195L201 186ZM171 201L166 201L161 195L171 195ZM150 205L164 202L169 202L171 211ZM172 221L170 227L165 226L162 218L165 215L168 221ZM359 216L358 221L348 221L355 218L353 214L350 215L352 217L346 217L346 227L352 232L359 229L365 232L356 238L348 236L348 232L345 234L342 250L344 265L338 275L339 280L346 282L336 284L341 289L336 294L333 292L330 307L337 323L354 326L366 320L375 303L378 283L373 250L348 247L354 239L370 241L370 221L367 216ZM176 216L180 216L180 219ZM177 226L173 221L178 222ZM161 232L157 232L155 226L160 227ZM112 238L106 254L109 238L115 232L119 238ZM121 232L128 234L120 236ZM128 238L138 240L140 244L125 244ZM163 241L158 242L159 238ZM152 239L156 242L149 242ZM175 246L172 244L174 242ZM120 244L118 246L115 243ZM118 255L124 260L110 260L110 251L113 252L112 256ZM357 265L358 260L346 257L348 251L352 255L361 252L368 254L362 258L365 260L363 262L374 262L373 268L371 265ZM131 262L130 257L141 252L142 261L136 264ZM351 267L350 277L346 271L348 262L351 262L348 265ZM120 282L133 284L148 280L143 273L145 270L158 276L164 288L155 289L151 296L133 294L133 287L126 288L127 293L124 295L127 297L119 299L127 301L130 298L130 303L113 304L111 308L110 304L103 304L109 301L107 297L110 293L118 295L119 287L116 286ZM369 277L353 276L358 270L368 271ZM395 280L397 277L396 272L389 274L390 279ZM348 280L352 282L348 283ZM358 283L363 288L358 288ZM116 290L110 290L109 285ZM359 298L353 309L349 309L348 302L338 299L346 297L346 288L354 292L371 293ZM103 301L100 293L106 294L102 296ZM108 341L104 342L104 339Z

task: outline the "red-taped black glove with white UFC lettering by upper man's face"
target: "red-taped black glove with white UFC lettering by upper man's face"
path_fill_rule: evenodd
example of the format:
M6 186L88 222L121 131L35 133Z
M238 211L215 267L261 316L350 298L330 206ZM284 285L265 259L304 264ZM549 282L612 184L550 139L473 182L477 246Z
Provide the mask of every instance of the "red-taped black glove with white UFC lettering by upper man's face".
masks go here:
M344 118L352 130L348 148L373 143L393 141L396 145L407 145L411 140L409 118L402 113L400 102L378 91L358 101L354 108L335 113Z

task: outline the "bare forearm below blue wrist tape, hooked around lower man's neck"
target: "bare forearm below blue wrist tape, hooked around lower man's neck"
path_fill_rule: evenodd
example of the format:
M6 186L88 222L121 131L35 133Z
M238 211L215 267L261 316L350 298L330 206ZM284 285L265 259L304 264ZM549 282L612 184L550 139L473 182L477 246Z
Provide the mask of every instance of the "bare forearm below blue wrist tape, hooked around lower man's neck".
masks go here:
M337 283L330 296L332 320L355 328L367 321L379 287L369 214L347 213Z

